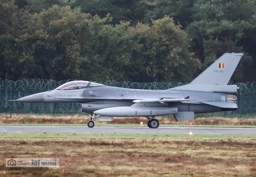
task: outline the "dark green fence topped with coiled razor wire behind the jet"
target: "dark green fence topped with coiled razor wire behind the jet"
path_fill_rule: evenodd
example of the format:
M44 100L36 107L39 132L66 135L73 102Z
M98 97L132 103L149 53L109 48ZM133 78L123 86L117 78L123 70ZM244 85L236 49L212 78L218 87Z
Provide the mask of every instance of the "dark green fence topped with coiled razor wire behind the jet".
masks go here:
M0 113L3 114L77 114L80 113L78 103L21 103L8 100L16 100L30 94L55 89L66 82L73 80L63 80L60 82L52 80L18 80L8 81L0 79ZM107 86L129 88L129 89L171 89L188 83L132 83L132 82L97 82ZM256 82L253 83L231 83L239 86L236 95L238 97L237 111L211 113L209 116L221 117L255 117L256 115Z

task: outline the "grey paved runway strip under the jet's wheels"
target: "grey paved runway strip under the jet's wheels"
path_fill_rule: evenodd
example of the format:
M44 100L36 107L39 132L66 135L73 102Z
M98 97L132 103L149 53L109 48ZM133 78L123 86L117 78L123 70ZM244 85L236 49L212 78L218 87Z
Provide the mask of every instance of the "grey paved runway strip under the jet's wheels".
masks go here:
M110 127L95 126L0 126L0 133L151 133L151 134L256 135L256 128L216 127Z

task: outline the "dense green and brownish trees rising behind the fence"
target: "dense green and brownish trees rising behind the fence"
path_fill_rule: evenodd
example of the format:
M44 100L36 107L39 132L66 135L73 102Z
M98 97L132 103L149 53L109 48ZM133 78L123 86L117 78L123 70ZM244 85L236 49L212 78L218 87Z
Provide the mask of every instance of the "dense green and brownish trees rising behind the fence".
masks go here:
M256 78L256 0L0 0L0 79L190 82L225 52Z

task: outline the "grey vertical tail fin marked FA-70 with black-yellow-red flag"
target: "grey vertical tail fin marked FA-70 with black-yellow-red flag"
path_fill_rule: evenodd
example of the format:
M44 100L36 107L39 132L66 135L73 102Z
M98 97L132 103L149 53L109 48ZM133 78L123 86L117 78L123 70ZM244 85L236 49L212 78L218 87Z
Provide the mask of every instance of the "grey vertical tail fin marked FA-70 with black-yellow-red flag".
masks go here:
M244 54L225 53L190 84L227 85Z

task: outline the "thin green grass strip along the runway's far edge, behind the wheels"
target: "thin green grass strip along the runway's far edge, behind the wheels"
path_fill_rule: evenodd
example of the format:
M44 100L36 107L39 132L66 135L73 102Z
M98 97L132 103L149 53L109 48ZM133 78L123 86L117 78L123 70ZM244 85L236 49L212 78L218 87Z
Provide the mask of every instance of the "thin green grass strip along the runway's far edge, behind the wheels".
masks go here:
M7 126L87 126L85 124L60 124L60 123L0 123L0 125L7 125ZM95 126L114 126L114 127L140 127L140 124L97 124ZM144 124L144 126L147 126ZM160 124L160 127L190 127L188 124ZM255 125L195 125L193 127L226 127L226 128L256 128Z

